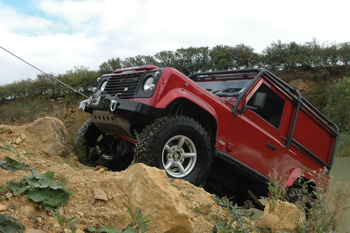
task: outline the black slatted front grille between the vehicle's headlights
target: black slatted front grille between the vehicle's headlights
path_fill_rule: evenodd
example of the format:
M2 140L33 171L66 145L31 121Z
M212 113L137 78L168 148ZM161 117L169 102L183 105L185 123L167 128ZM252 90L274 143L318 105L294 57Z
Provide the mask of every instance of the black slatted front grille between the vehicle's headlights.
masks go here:
M134 96L137 85L143 72L132 74L112 75L104 89L110 95L119 94L118 98L131 98ZM125 90L127 88L127 90Z

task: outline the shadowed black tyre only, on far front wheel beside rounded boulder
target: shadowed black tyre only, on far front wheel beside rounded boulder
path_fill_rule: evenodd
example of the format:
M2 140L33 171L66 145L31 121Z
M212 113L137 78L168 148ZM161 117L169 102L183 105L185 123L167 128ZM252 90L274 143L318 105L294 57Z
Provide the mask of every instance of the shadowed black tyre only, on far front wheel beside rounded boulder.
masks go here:
M125 170L133 160L132 155L107 162L101 159L98 154L90 153L90 149L96 147L96 142L101 135L102 132L92 123L91 119L88 119L80 127L76 138L76 144L83 153L80 162L89 166L102 165L114 171Z

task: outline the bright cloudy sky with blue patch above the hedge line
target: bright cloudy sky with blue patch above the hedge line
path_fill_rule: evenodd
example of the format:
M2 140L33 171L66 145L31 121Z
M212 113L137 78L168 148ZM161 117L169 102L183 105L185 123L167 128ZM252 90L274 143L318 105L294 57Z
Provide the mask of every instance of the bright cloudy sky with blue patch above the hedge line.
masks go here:
M0 46L44 72L189 46L348 42L349 0L0 0ZM0 85L37 70L0 49Z

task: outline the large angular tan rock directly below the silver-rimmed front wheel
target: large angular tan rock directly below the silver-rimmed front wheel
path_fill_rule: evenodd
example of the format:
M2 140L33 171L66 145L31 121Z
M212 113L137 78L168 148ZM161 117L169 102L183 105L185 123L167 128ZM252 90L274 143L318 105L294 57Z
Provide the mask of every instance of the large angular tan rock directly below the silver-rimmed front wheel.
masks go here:
M133 212L135 207L140 208L144 216L158 211L147 224L148 228L158 228L150 232L193 232L190 216L180 201L180 192L170 185L165 170L137 163L126 169L120 179Z

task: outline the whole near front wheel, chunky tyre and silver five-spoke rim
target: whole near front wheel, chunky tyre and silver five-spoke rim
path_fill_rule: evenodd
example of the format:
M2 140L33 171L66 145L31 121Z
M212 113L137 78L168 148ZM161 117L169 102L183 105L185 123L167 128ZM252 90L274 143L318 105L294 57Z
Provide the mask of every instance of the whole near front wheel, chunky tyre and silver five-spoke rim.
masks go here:
M210 139L194 119L162 117L140 134L135 161L164 169L168 177L197 186L204 183L212 162Z

